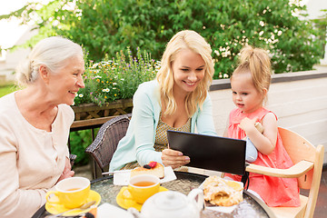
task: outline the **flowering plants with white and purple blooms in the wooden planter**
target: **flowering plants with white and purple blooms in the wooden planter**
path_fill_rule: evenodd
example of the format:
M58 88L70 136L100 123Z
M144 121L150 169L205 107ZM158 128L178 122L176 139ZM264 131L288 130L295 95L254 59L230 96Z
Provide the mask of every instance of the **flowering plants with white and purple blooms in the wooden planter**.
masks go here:
M76 94L74 105L94 103L102 106L118 99L132 98L139 84L154 79L159 62L138 48L136 56L129 48L127 53L125 56L121 51L112 59L106 55L99 63L91 61L84 73L85 88Z

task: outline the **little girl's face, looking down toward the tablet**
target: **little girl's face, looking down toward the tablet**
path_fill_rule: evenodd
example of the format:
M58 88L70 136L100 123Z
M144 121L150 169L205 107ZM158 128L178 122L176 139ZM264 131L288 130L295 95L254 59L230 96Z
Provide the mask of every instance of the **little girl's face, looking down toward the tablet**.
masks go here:
M263 97L267 93L259 93L254 87L251 73L233 74L231 80L233 91L233 103L242 110L244 114L255 112L263 106Z

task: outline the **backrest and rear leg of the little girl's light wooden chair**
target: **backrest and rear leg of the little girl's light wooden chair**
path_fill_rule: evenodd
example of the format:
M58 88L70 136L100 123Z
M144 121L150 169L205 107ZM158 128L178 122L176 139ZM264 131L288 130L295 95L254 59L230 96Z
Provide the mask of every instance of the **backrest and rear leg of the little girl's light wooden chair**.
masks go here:
M322 177L323 146L319 144L315 147L291 130L279 127L278 131L282 137L282 144L294 164L302 160L313 163L312 170L298 178L300 188L310 189L304 217L312 217Z

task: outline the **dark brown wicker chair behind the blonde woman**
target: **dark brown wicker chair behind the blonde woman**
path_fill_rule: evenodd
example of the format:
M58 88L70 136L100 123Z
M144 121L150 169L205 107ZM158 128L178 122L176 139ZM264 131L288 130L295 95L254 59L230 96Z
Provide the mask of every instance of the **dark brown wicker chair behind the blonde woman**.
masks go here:
M130 118L131 114L118 115L104 123L94 142L85 149L85 153L91 154L94 158L94 178L98 177L96 164L102 173L107 170L117 144L126 134Z

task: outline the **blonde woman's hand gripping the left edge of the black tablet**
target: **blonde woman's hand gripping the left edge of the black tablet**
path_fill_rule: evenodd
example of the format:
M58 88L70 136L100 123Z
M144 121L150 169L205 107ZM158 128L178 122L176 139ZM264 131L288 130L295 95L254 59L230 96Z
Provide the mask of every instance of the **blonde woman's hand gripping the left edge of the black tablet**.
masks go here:
M163 150L162 160L164 166L172 166L173 169L190 163L190 157L184 156L183 153L172 149Z

